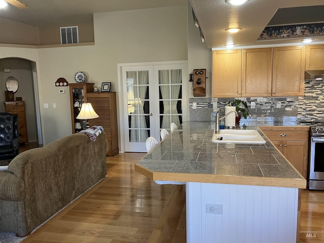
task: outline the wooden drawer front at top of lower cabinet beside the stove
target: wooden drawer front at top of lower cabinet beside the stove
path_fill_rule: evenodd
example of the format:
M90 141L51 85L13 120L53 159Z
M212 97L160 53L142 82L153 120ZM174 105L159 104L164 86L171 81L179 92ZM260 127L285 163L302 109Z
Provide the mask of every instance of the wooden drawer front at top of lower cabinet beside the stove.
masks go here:
M271 141L308 141L309 128L260 127Z

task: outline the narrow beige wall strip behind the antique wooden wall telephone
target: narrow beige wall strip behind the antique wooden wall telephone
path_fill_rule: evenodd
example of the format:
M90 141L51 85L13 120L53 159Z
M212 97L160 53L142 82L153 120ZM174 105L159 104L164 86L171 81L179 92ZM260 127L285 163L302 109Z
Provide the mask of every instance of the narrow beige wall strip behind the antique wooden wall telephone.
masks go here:
M188 0L188 71L206 68L206 97L212 97L212 50L201 42L199 28L192 18L191 5ZM188 86L188 97L193 98L192 83Z

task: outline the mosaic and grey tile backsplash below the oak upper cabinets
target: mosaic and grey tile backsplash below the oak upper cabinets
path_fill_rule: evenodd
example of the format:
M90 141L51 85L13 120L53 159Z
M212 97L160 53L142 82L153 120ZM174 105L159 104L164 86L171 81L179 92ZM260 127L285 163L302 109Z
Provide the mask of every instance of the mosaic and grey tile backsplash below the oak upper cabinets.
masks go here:
M290 119L301 122L322 122L324 121L324 81L306 80L305 94L303 97L258 97L240 98L247 101L251 119L262 119L272 117L279 121ZM220 110L223 115L224 106L234 98L190 98L189 119L190 120L211 120L211 114ZM196 102L196 109L192 103ZM255 108L251 108L251 102L255 102ZM280 108L277 106L280 103ZM244 118L242 118L244 119Z

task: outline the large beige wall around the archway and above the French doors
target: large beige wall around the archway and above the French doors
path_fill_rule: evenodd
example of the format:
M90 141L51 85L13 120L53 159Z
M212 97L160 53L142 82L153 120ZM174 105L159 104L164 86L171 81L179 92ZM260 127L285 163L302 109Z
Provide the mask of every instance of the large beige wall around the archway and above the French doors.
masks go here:
M111 82L117 91L117 63L187 60L186 6L95 14L94 30L94 46L0 47L0 58L36 62L44 144L71 134L69 89L55 87L57 78L74 83L74 74L84 71L88 82Z

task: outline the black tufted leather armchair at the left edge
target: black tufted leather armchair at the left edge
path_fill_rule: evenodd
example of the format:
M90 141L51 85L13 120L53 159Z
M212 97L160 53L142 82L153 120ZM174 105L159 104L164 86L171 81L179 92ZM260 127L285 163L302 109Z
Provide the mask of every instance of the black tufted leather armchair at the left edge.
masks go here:
M19 154L18 115L0 112L0 160Z

